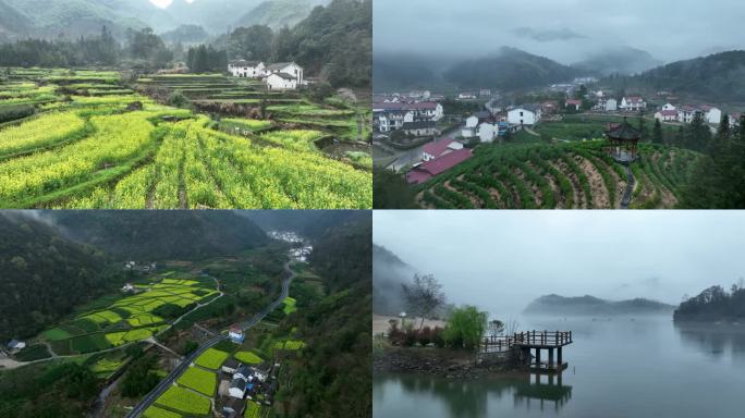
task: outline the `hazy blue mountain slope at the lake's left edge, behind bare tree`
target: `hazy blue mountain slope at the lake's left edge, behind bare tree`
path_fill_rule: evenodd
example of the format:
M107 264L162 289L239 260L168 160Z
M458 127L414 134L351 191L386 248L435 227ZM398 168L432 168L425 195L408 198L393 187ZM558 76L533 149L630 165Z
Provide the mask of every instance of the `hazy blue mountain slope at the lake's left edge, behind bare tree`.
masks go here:
M379 245L373 245L373 312L399 315L406 310L401 285L410 282L416 270L399 256Z

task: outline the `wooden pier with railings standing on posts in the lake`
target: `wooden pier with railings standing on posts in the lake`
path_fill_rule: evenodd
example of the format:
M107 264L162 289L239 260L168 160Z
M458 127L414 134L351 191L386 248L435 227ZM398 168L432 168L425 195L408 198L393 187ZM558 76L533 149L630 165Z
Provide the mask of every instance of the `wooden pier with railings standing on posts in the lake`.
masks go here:
M481 353L492 354L518 349L522 353L521 357L525 359L526 366L532 371L557 372L567 367L567 364L563 361L562 348L569 344L572 344L572 331L527 331L512 335L488 336L484 339ZM541 361L542 351L548 352L546 362Z

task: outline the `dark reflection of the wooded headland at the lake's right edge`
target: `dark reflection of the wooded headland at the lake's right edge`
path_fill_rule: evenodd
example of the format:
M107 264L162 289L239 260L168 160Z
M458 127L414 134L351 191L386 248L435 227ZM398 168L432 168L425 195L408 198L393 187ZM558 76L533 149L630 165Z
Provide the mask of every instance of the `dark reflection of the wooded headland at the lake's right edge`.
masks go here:
M720 359L731 357L745 362L745 325L728 323L675 323L675 330L686 347Z

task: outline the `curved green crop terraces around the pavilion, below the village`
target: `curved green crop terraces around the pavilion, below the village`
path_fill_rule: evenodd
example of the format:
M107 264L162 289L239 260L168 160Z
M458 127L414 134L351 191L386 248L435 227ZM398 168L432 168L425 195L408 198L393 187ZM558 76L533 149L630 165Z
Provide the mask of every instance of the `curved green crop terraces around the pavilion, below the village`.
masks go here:
M478 147L471 160L417 187L423 208L612 209L622 206L626 169L603 140ZM673 208L698 155L644 144L631 165L631 208Z

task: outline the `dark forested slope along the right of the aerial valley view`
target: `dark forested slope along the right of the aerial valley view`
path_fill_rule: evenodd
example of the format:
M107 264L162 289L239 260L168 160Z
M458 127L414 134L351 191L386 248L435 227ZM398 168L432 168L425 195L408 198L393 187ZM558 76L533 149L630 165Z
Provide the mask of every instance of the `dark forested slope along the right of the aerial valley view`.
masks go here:
M371 414L371 217L328 231L310 266L328 288L325 298L294 316L305 340L293 361L292 386L278 403L284 417L366 417Z

